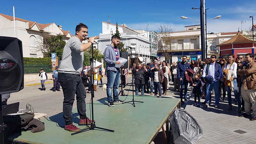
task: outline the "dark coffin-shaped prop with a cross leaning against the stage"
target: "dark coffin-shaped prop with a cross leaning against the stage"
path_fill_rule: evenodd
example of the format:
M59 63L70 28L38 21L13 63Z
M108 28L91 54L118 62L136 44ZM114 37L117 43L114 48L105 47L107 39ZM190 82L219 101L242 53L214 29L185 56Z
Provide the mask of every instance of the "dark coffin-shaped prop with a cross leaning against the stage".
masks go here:
M203 130L196 119L184 109L175 109L169 118L171 141L175 144L196 144Z

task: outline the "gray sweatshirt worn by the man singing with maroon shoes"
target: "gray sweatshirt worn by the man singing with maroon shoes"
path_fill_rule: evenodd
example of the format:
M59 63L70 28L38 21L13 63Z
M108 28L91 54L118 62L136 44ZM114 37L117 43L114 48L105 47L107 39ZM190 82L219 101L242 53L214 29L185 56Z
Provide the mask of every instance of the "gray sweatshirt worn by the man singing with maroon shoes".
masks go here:
M84 52L81 51L81 46L82 43L76 36L68 40L63 49L59 73L80 75L84 62Z

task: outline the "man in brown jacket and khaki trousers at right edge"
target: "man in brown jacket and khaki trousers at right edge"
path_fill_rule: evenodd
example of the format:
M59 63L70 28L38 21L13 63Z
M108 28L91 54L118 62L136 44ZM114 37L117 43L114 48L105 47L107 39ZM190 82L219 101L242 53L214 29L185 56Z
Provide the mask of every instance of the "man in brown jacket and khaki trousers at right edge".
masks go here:
M244 117L255 121L256 120L256 62L254 62L254 55L247 53L245 55L245 62L243 69L239 69L237 74L242 77L242 97L244 99ZM252 103L252 105L251 105ZM251 116L251 108L253 110Z

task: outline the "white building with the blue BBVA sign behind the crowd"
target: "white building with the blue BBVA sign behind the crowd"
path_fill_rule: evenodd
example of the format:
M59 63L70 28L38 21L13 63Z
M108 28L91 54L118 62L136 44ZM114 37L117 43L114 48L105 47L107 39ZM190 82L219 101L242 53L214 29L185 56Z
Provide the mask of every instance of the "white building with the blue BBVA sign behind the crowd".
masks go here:
M212 54L219 57L219 47L216 47L215 45L230 39L236 34L237 32L207 34L207 57L210 57ZM158 35L163 38L164 33L158 33ZM166 61L168 63L181 61L183 55L186 55L189 61L201 58L200 25L185 26L184 31L169 32L169 36L172 44L168 45L167 49L168 58ZM163 52L161 48L158 49L157 56L161 57L161 61L165 60L165 52Z

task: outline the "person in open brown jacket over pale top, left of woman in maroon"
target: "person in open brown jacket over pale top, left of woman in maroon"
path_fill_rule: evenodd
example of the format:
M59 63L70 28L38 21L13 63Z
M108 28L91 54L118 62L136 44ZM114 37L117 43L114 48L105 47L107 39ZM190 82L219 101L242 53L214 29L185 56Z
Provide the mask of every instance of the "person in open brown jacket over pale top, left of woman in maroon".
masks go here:
M154 82L155 87L155 96L157 95L157 89L159 90L159 98L162 96L161 83L164 82L164 72L162 69L159 69L158 65L155 64L153 68L151 68L151 78Z

